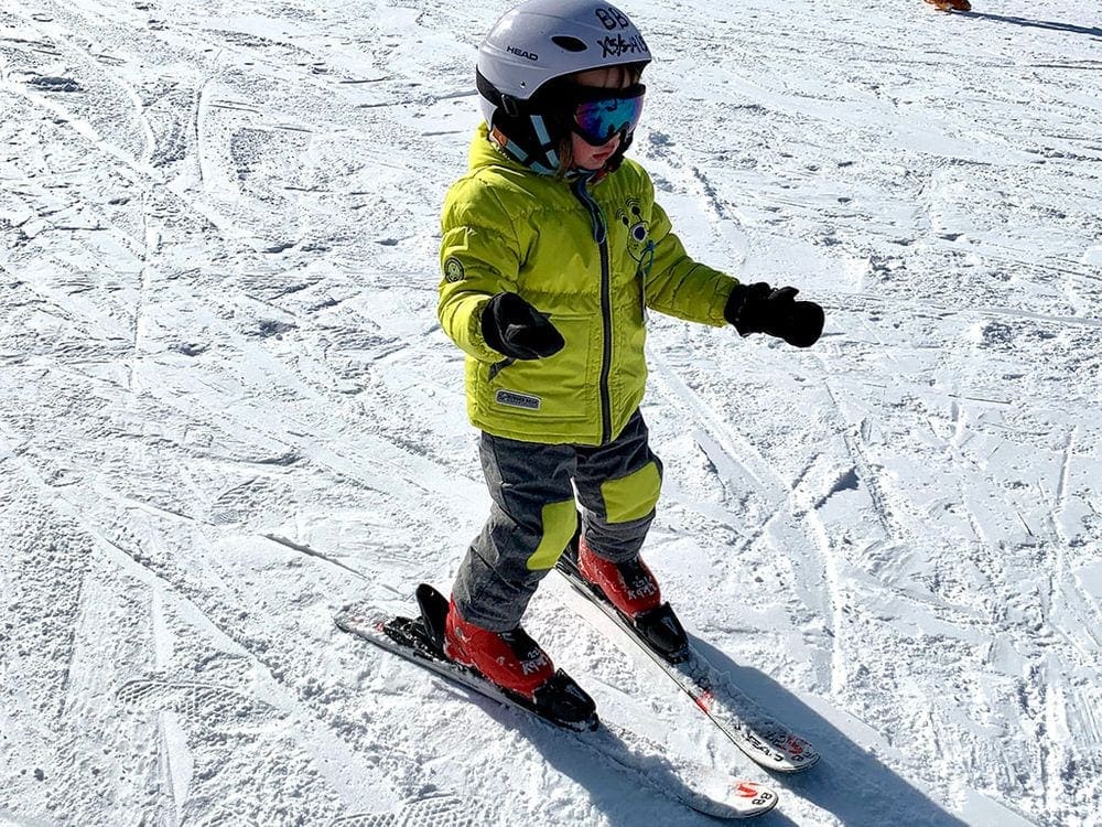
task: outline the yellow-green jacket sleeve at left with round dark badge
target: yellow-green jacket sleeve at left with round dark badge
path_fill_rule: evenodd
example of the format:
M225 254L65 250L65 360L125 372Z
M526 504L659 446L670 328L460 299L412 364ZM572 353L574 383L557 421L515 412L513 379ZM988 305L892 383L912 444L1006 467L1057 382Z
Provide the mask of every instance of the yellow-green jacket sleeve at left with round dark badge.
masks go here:
M498 362L501 354L483 336L482 313L495 293L517 292L521 254L509 214L487 184L463 179L444 201L441 233L440 324L469 356Z

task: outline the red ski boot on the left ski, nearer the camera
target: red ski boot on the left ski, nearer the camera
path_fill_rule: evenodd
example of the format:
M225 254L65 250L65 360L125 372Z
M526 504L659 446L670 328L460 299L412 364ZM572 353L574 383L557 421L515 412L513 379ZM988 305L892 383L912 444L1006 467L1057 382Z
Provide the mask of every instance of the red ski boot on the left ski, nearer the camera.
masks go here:
M455 601L447 608L444 654L464 666L473 666L487 680L529 700L555 674L551 658L523 629L490 632L476 626L463 620Z

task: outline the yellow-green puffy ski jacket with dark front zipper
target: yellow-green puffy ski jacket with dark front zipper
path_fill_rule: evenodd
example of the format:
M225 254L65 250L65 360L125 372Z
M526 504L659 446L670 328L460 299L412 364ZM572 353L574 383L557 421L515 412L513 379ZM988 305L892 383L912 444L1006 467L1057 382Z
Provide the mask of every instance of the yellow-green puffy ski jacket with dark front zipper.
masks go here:
M526 442L615 439L646 389L645 308L724 325L737 283L689 257L638 163L596 182L540 175L498 150L485 123L441 229L437 313L467 354L467 414L476 428ZM533 361L490 348L482 312L501 291L549 313L565 346Z

